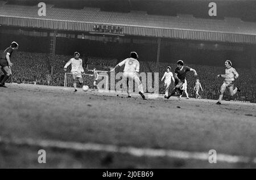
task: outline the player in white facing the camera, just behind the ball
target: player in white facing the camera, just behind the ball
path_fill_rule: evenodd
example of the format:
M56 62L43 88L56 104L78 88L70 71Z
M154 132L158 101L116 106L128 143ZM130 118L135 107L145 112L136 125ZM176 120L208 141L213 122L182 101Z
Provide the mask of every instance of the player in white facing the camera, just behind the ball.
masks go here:
M67 71L67 67L69 65L72 66L71 69L71 74L73 77L73 85L75 88L74 92L77 92L77 88L76 88L76 79L79 80L79 84L82 85L82 74L85 74L84 72L84 68L82 68L82 59L80 59L80 54L78 52L74 53L74 58L69 59L69 61L66 63L66 65L64 66L64 71Z

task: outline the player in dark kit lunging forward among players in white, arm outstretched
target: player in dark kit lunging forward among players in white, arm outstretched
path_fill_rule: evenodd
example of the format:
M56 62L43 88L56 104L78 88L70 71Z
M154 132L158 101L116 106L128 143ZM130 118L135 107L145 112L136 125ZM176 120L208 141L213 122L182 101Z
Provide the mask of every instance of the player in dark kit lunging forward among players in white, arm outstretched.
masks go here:
M175 69L175 75L174 75L175 88L174 90L172 90L171 95L166 97L167 99L173 96L177 91L179 91L180 94L183 93L183 90L181 90L180 87L185 83L185 78L188 71L193 71L194 75L197 76L196 70L188 66L184 66L184 63L181 60L177 61L177 67Z

